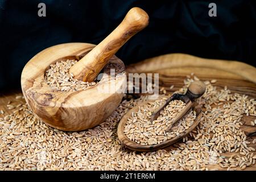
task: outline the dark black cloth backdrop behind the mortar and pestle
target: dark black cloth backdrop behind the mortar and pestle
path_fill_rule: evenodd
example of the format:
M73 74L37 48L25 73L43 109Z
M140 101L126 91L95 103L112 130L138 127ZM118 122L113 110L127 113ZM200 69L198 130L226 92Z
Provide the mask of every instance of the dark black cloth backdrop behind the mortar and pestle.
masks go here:
M46 17L38 16L40 2ZM208 15L210 2L217 17ZM0 89L19 88L24 65L49 46L100 43L134 6L148 13L150 23L117 52L125 64L179 52L256 65L253 1L0 0Z

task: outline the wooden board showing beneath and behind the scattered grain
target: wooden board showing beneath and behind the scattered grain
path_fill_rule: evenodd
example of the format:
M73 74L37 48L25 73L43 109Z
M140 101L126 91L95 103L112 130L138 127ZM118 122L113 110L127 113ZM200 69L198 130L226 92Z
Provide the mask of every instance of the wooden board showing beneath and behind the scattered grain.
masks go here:
M127 71L130 73L159 73L160 86L170 88L171 85L174 85L174 88L169 90L170 93L181 88L184 78L193 72L201 80L216 79L217 82L213 85L217 86L217 88L224 88L224 86L227 85L228 89L232 92L247 94L251 98L256 98L256 68L237 61L210 60L173 53L153 57L140 63L130 65L127 67ZM11 111L6 107L7 102L9 100L15 100L15 96L18 93L21 93L21 90L1 94L0 109L10 114ZM2 116L0 115L0 117ZM255 117L242 118L244 125L241 129L245 131L245 133L256 132L256 126L250 125L250 121L253 119L255 119ZM251 142L254 138L256 138L255 135L248 137L248 140ZM256 144L250 144L249 146L256 148ZM254 152L254 154L256 154L256 152ZM222 155L230 156L232 153L226 152ZM220 168L217 164L209 166L209 169L210 168L225 170ZM256 165L248 167L246 170L256 170Z

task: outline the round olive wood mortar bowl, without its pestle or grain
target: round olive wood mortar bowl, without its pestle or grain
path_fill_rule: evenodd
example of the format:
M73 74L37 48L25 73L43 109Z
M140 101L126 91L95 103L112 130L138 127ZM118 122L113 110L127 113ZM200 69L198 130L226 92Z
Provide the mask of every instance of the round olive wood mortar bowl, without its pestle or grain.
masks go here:
M115 56L105 66L100 82L86 90L61 92L46 84L44 73L49 65L67 59L80 60L93 47L86 43L53 46L35 55L24 67L21 77L24 98L49 126L65 131L89 129L104 122L121 102L123 94L118 91L126 82L125 65ZM114 79L110 77L112 68L118 75ZM102 92L110 84L115 90Z

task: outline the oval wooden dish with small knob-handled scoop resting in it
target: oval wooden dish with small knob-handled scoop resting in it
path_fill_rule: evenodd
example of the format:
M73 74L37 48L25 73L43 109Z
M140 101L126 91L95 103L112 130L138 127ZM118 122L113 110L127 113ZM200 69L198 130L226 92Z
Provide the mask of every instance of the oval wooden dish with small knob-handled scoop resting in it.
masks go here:
M166 147L170 146L171 144L177 142L178 140L182 139L187 134L189 134L199 124L201 115L202 115L202 111L201 111L201 106L199 104L197 104L195 99L203 96L205 89L206 89L206 87L205 87L204 82L194 81L189 85L187 93L172 94L172 96L167 98L166 102L164 102L163 105L159 106L158 110L156 110L152 114L151 121L154 121L156 118L158 118L160 111L163 110L164 107L166 107L170 101L181 100L181 101L185 102L186 105L184 106L183 110L181 110L180 113L178 113L176 115L176 117L173 119L172 125L169 126L167 129L167 131L170 130L172 128L172 126L174 125L174 123L176 123L177 121L182 119L185 115L187 115L188 111L192 109L193 111L196 112L196 119L188 129L183 131L183 133L180 133L179 135L175 136L174 138L168 139L162 143L152 144L152 145L138 144L138 143L130 140L129 138L127 138L126 135L123 133L127 119L131 117L131 113L137 112L139 110L139 107L148 104L148 102L152 102L152 100L147 100L147 101L144 101L141 104L138 104L137 106L133 107L133 109L129 110L128 113L123 116L123 118L119 122L118 129L117 129L117 134L118 134L119 140L127 148L129 148L130 150L134 150L134 151L155 151L155 150L159 150L161 148L166 148ZM162 98L166 98L166 96L160 96L158 99L162 99Z

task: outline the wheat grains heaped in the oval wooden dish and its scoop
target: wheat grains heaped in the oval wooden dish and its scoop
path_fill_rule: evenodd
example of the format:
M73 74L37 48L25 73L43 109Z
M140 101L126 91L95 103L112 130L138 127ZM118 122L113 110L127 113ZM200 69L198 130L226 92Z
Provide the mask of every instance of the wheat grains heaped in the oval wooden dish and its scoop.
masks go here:
M173 125L176 115L184 109L185 103L180 100L174 100L160 111L159 117L155 121L150 121L152 113L164 103L164 99L148 102L148 104L139 107L138 111L131 113L127 119L123 133L136 143L139 144L159 144L168 139L180 135L187 130L196 119L195 111L190 111L183 119Z

